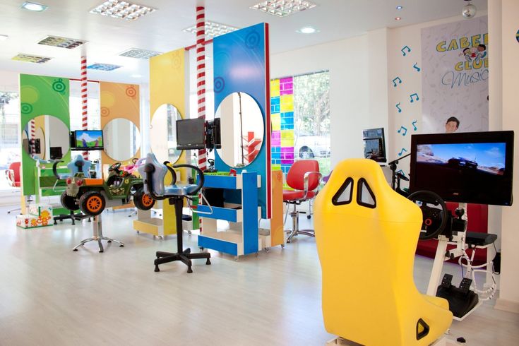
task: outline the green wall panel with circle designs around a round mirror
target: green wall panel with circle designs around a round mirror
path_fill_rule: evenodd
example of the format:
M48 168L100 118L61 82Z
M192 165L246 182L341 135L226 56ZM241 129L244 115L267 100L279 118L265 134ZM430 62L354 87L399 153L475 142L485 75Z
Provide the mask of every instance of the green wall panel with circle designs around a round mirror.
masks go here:
M20 116L21 129L40 115L52 115L64 122L70 129L68 79L20 74ZM35 121L32 121L35 123ZM36 124L34 124L34 129ZM29 126L31 127L31 126ZM62 160L71 160L70 150L63 153ZM22 148L22 191L23 195L35 194L36 161Z

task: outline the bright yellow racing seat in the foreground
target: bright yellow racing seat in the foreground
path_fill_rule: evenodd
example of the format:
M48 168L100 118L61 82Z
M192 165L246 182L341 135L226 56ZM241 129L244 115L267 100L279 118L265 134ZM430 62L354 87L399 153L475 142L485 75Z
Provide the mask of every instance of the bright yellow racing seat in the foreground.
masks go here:
M422 211L393 191L373 160L333 169L315 201L328 333L362 345L429 345L451 326L445 299L414 285Z

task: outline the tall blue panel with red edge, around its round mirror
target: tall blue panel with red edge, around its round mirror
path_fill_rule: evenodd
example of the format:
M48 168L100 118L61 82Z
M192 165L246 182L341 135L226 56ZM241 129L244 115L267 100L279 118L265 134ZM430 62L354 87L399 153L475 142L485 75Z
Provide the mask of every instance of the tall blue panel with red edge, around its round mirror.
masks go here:
M265 124L265 137L260 153L250 165L238 168L257 172L261 177L258 202L261 217L270 218L271 179L270 176L270 76L269 76L268 24L261 23L213 40L215 110L227 95L244 92L253 97L261 109ZM222 124L222 126L225 126ZM218 153L215 153L215 167L229 171Z

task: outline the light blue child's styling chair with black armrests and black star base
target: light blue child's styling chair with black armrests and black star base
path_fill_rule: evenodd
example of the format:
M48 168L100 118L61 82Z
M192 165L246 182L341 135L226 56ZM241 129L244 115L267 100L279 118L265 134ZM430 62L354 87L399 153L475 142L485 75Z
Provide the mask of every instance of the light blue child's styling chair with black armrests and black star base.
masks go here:
M168 162L169 163L169 162ZM198 172L198 184L176 184L177 174L175 174L173 168L187 167L195 169ZM190 196L196 196L198 191L203 186L203 172L196 166L191 165L174 165L174 166L162 165L157 162L157 158L153 153L148 153L146 156L146 164L139 167L138 171L141 176L144 177L144 191L148 193L155 200L167 199L169 204L175 207L175 217L177 222L177 252L163 252L157 251L157 259L155 259L155 271L158 272L159 265L163 263L169 263L173 261L182 261L187 266L187 272L193 273L191 269L191 260L198 258L206 258L205 264L211 264L209 258L210 253L191 253L191 249L184 249L182 244L182 208L184 207L184 198L190 198ZM167 172L172 173L172 184L164 186L164 178Z

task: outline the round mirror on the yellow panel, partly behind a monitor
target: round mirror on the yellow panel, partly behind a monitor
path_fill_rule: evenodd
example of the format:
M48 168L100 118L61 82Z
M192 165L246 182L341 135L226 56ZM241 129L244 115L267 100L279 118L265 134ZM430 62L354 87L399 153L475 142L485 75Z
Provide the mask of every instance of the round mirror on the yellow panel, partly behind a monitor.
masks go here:
M177 162L182 150L177 150L177 120L182 116L174 105L165 103L153 113L150 126L150 147L159 162Z

